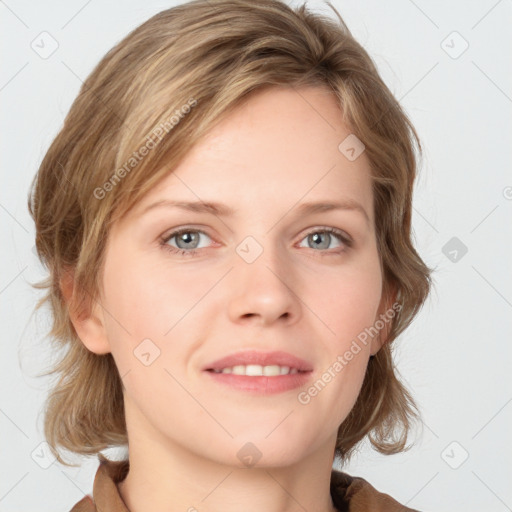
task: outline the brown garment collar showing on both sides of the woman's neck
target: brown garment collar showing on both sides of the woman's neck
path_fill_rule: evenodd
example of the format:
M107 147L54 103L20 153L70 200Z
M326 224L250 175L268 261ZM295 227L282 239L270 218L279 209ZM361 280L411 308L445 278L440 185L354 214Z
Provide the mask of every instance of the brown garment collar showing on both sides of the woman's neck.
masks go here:
M101 453L98 458L93 496L85 496L70 512L130 512L116 485L128 474L129 462L111 461ZM363 478L336 470L331 473L331 496L340 512L418 512L377 491Z

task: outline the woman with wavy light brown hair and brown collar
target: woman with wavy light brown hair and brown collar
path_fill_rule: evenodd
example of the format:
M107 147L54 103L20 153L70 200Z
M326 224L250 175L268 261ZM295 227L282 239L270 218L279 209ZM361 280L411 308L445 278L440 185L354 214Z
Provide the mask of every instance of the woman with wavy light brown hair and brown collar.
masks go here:
M108 52L29 202L67 348L45 435L100 460L73 512L411 510L332 465L417 417L391 357L430 287L414 142L305 7L189 2Z

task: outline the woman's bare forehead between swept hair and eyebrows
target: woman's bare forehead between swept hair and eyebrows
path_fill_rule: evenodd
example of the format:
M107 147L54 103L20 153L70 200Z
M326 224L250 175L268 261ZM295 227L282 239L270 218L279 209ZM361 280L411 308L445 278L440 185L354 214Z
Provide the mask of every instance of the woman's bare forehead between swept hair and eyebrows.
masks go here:
M327 87L257 91L225 115L133 214L169 199L220 202L242 212L345 199L362 204L371 218L369 162L364 152L350 160L340 150L349 136Z

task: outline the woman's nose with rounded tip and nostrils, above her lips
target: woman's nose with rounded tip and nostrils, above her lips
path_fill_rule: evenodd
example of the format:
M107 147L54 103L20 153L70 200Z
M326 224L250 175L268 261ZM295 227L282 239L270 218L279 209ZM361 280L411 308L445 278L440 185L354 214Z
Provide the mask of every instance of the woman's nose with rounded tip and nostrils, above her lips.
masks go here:
M276 321L292 324L300 319L302 302L293 268L276 251L264 248L252 263L239 258L231 272L228 313L234 323Z

